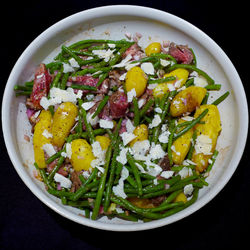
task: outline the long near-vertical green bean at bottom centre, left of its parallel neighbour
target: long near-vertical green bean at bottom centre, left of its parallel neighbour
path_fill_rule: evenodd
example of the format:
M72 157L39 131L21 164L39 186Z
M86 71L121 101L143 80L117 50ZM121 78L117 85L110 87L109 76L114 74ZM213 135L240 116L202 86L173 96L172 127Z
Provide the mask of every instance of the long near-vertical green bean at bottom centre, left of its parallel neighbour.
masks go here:
M92 220L95 220L99 214L99 209L100 209L100 205L101 205L101 201L102 201L103 192L105 189L106 178L108 175L109 163L110 163L111 156L112 156L112 146L110 145L107 152L106 152L104 173L101 176L100 184L98 187L98 192L97 192L96 199L95 199L93 213L91 216Z

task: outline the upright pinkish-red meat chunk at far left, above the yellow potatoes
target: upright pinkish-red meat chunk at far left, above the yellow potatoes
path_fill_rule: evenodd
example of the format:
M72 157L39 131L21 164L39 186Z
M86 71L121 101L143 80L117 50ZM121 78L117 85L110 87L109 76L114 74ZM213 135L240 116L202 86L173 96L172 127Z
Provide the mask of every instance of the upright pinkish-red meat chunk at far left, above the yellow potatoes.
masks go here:
M34 85L30 95L30 101L34 109L42 109L40 100L42 97L48 95L51 81L52 77L46 69L45 64L41 63L35 71Z

